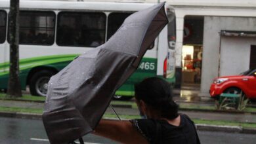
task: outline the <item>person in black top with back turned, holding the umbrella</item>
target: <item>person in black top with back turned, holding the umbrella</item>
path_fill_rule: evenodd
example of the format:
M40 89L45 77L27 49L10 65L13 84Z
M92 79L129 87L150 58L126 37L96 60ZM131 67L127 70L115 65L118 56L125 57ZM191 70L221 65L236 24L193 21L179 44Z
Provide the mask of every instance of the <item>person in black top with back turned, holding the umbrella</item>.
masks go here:
M93 134L121 143L200 143L194 122L178 113L168 82L152 77L135 85L142 119L100 120Z

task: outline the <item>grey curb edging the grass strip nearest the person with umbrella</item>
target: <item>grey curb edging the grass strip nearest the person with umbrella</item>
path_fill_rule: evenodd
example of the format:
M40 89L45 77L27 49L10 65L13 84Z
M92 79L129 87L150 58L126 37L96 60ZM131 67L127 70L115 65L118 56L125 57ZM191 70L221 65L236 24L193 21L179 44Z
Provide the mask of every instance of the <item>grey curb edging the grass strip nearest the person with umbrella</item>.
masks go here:
M41 120L41 114L32 113L11 113L11 112L0 112L0 117L8 118L24 118L32 120ZM117 118L106 118L117 120ZM228 133L241 133L241 134L256 134L256 128L242 128L241 126L217 126L209 124L196 124L197 130L211 131L211 132L228 132Z

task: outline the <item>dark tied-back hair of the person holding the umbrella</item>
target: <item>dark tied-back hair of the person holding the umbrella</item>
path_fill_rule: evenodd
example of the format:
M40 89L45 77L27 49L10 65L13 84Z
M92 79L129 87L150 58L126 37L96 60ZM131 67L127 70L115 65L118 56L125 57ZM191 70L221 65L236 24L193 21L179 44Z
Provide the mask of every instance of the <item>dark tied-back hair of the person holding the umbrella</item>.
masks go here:
M173 101L171 84L158 77L144 79L135 84L135 98L159 111L161 117L173 119L178 117L179 105Z

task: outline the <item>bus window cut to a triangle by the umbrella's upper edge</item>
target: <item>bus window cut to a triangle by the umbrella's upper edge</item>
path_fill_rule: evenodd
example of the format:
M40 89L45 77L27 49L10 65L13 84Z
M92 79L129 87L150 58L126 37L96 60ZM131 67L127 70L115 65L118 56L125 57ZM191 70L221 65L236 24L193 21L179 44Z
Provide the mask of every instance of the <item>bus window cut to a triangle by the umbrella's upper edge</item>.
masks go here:
M122 12L112 12L108 16L108 33L107 39L110 39L114 33L116 33L117 29L123 24L125 18L127 18L132 13L122 13Z

